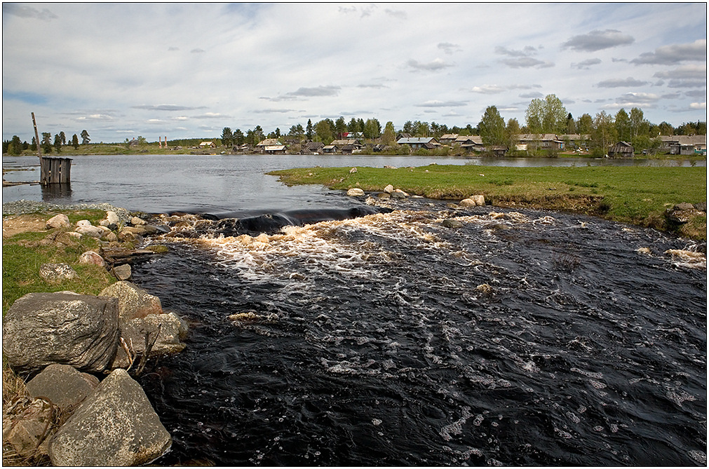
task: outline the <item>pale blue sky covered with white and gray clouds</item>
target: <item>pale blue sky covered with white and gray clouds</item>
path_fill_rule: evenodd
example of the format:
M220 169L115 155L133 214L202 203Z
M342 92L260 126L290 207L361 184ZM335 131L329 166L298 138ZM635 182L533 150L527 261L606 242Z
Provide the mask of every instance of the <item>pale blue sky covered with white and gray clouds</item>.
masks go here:
M324 118L706 120L705 3L4 3L2 134L285 134Z

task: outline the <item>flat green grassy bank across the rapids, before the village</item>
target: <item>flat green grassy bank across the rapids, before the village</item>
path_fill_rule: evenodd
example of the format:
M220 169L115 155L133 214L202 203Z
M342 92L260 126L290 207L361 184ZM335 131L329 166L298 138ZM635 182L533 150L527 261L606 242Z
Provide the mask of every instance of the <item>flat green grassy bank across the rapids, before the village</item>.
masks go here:
M299 168L272 171L286 184L322 184L334 189L381 191L387 184L412 195L460 200L485 196L488 205L568 210L608 220L667 230L664 210L677 203L707 200L703 167L584 166L516 168L443 166L418 168ZM706 216L681 234L706 239Z

